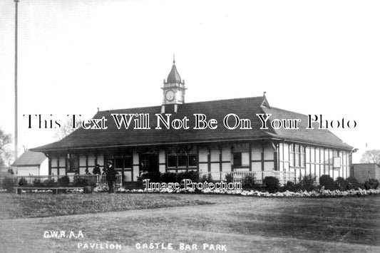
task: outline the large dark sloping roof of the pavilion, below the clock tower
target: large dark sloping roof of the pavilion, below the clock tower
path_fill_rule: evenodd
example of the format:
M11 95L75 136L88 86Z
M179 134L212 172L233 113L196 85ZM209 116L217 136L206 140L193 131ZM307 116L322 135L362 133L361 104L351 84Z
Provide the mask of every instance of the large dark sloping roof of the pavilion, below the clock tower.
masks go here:
M265 103L264 103L265 102ZM183 119L188 117L188 130L175 130L173 128L155 129L157 126L157 118L155 114L160 114L161 106L145 107L145 108L129 108L120 110L104 110L99 111L93 118L107 119L106 130L78 130L68 135L63 140L34 148L35 151L54 151L54 150L75 150L83 148L106 148L118 146L139 146L139 145L165 145L175 143L209 143L219 141L236 141L236 140L257 140L257 139L281 139L281 140L294 140L304 143L314 143L318 145L325 145L334 148L351 149L352 147L346 145L337 136L328 130L261 130L260 120L257 118L256 113L272 113L277 115L278 118L298 118L306 117L298 113L292 113L278 108L269 108L264 104L269 105L265 96L254 98L235 98L226 100L214 100L197 103L185 103L178 105L178 113L173 113L171 120ZM169 109L169 106L166 105ZM170 113L166 109L167 113ZM133 129L130 127L128 130L116 128L111 114L118 113L148 113L150 115L150 128L148 130ZM194 127L194 113L202 113L207 116L207 120L215 118L218 127L215 130L204 129L195 130ZM223 125L225 115L235 113L241 119L247 118L251 120L252 129L229 130ZM133 121L132 121L133 123ZM289 133L287 132L289 131Z

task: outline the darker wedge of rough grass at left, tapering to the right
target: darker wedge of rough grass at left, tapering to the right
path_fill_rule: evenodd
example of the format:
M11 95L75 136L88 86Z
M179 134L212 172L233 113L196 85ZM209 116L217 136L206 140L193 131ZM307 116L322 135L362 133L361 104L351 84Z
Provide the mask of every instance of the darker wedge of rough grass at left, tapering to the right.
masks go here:
M182 207L210 205L195 195L153 194L112 194L106 192L85 194L0 194L0 220L15 218L51 217L61 215L82 215L95 212L115 212L123 210L151 209L159 207ZM1 207L0 207L1 208Z

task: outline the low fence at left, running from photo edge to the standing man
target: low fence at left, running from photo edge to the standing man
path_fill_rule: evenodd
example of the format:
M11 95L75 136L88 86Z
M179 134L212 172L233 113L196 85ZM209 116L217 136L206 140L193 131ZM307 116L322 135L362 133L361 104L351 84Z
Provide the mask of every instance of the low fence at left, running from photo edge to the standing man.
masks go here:
M69 185L75 185L76 182L81 180L87 180L88 184L95 185L107 185L106 175L44 175L44 176L6 176L0 179L0 182L4 182L4 180L13 180L14 185L26 183L26 185L37 185L41 183L46 183L50 181L50 183L59 182L62 177L68 177ZM116 175L115 185L122 184L122 175ZM3 184L0 185L0 187Z

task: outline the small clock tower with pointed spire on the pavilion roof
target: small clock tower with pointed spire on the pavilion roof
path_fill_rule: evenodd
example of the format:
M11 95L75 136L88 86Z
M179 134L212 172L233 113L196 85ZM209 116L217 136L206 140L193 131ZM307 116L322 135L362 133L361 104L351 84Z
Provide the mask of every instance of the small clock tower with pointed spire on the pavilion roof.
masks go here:
M163 105L161 113L174 111L177 113L178 105L185 103L185 80L181 80L180 74L175 67L175 59L173 57L172 70L168 78L163 81Z

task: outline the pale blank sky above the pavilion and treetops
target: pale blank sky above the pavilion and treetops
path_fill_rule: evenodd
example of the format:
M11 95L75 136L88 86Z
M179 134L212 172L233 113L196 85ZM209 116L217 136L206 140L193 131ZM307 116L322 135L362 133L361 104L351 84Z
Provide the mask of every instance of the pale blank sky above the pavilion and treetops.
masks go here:
M0 1L0 128L14 135L14 1ZM20 0L19 147L55 141L27 117L160 105L175 53L186 101L260 96L380 149L379 1Z

